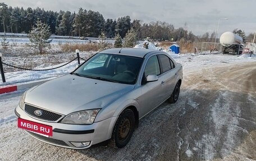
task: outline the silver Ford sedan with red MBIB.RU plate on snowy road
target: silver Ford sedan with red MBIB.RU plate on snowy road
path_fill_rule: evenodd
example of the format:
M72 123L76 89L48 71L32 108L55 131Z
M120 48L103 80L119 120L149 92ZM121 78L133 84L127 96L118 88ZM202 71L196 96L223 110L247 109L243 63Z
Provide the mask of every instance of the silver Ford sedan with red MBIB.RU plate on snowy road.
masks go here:
M68 75L26 91L18 127L48 144L85 149L130 140L139 119L179 98L182 66L158 50L103 50ZM163 116L164 117L164 116Z

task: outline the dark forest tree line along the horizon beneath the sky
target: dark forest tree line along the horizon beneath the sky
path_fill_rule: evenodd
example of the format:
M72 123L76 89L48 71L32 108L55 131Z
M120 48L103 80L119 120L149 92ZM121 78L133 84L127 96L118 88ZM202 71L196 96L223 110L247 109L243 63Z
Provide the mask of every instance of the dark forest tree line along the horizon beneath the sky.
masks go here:
M0 3L0 32L6 33L29 33L36 21L42 21L49 26L51 34L62 36L88 36L98 37L102 32L107 38L115 38L117 33L124 38L127 31L134 29L138 39L147 39L164 41L179 40L185 42L214 42L216 33L205 33L195 36L192 31L185 27L175 29L172 24L167 22L142 23L140 20L131 20L130 16L119 17L118 19L105 20L103 15L97 11L84 10L79 11L45 11L39 7L32 9L23 7L11 7ZM185 28L185 29L184 29ZM235 30L234 30L235 31ZM237 34L244 31L236 29ZM234 32L235 33L235 32ZM241 36L241 35L240 35ZM252 37L252 34L249 35Z

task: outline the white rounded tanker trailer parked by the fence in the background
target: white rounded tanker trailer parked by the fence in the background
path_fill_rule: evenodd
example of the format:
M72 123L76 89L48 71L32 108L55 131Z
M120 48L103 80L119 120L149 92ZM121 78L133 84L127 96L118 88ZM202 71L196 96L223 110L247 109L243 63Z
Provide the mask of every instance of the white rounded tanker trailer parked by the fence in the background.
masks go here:
M223 54L236 53L241 54L243 51L243 38L230 31L223 33L220 37Z

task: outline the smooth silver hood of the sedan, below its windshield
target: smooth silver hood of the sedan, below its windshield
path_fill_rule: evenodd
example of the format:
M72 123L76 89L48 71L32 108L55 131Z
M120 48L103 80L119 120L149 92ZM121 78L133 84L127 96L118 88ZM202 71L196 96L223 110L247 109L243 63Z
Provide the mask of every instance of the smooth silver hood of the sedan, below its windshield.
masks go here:
M25 103L67 115L85 109L103 108L132 89L134 85L70 74L28 90Z

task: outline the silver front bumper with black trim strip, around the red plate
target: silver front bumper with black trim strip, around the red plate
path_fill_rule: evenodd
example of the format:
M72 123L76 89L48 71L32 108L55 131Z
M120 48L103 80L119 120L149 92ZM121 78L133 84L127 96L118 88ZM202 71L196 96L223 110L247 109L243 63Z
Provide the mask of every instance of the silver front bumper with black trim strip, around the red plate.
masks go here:
M117 117L104 119L103 121L94 122L92 125L70 125L65 123L47 122L30 117L23 111L19 105L15 108L17 117L52 126L53 136L45 137L34 132L26 131L35 139L46 142L51 145L60 146L69 149L86 149L99 142L106 141L111 138L112 129L115 125ZM77 148L71 142L86 142L90 144L83 148Z

